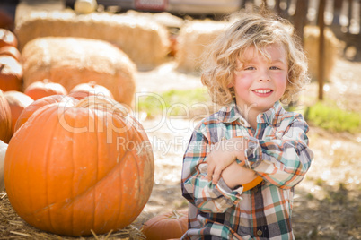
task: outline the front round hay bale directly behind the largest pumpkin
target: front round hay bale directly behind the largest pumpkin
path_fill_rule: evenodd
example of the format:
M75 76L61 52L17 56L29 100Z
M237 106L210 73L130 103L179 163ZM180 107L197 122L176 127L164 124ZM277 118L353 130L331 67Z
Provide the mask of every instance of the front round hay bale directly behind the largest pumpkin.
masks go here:
M136 90L136 66L118 47L96 39L45 37L33 39L22 49L23 88L49 79L67 91L95 81L114 99L131 105Z

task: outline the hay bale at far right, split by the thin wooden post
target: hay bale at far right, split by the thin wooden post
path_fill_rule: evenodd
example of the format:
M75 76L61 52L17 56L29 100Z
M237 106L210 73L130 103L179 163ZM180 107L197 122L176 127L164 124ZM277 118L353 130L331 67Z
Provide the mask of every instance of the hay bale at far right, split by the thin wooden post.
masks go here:
M333 32L325 28L324 30L325 51L324 51L324 78L330 81L333 67L339 56L339 50L342 46L339 39L335 37ZM318 78L319 69L319 39L320 29L317 26L304 27L304 51L309 60L309 71L313 80Z

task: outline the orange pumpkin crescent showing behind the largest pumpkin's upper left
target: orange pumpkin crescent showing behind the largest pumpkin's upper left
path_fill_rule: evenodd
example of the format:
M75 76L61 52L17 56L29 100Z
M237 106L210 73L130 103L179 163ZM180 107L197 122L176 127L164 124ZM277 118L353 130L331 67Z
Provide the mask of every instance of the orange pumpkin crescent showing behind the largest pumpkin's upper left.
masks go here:
M22 114L18 117L18 120L16 121L14 132L16 132L22 126L22 124L25 124L25 122L28 121L29 117L31 117L31 115L40 107L44 107L50 104L74 106L77 101L77 99L64 95L51 95L35 100L31 103L31 105L25 107L25 109L22 110Z

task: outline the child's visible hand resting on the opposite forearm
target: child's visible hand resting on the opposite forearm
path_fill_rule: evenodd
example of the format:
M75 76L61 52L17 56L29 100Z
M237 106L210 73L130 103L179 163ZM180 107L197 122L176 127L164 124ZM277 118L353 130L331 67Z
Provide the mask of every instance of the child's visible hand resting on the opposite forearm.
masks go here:
M208 181L216 184L225 167L228 167L235 159L244 160L244 149L244 139L242 137L217 142L214 145L214 150L207 156Z

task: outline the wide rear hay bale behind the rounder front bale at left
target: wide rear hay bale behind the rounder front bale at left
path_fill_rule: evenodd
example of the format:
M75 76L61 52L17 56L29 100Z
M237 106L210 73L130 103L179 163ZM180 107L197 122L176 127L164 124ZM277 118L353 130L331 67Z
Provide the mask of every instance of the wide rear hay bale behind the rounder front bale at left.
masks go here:
M162 64L169 52L167 29L147 17L74 11L34 12L16 22L19 48L39 37L101 39L122 49L139 68Z

